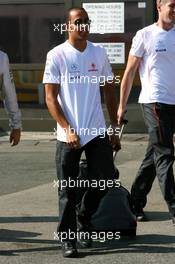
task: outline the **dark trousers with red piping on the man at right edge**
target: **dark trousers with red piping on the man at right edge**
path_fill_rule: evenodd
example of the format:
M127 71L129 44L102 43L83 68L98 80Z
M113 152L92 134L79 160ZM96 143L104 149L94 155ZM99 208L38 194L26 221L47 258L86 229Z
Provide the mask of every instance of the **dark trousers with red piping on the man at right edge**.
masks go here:
M148 127L149 143L145 158L131 188L135 207L144 207L157 175L171 216L175 216L175 183L173 175L175 105L151 103L142 105Z

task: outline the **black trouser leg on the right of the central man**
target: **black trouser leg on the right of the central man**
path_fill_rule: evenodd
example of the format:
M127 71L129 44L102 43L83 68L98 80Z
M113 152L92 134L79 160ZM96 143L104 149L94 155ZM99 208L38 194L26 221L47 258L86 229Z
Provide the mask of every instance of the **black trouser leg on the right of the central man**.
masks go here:
M83 225L88 225L91 216L96 212L100 200L106 194L107 180L115 178L112 147L109 139L97 137L84 146L88 164L90 180L98 183L98 188L90 187L86 190L78 209L78 218ZM99 188L100 187L100 188Z

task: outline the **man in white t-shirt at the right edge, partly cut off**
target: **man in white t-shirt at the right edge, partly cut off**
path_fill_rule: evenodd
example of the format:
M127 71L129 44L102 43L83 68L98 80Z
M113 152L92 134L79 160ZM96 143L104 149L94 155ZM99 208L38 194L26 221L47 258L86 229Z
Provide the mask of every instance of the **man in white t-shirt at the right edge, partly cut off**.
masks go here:
M157 0L157 9L157 23L139 30L133 38L121 83L118 122L123 118L135 72L139 68L142 86L139 103L148 127L149 144L131 195L138 220L147 220L143 208L157 175L175 225L175 0Z

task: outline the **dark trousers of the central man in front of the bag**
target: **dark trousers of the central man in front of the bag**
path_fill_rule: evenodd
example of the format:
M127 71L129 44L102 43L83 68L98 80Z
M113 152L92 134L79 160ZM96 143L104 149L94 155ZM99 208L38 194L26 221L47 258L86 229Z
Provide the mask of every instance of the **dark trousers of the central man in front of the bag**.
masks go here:
M85 151L88 175L91 180L108 180L115 178L115 167L113 163L113 152L109 138L96 137L88 142L81 149L72 149L67 143L57 141L56 167L59 181L69 179L76 181L79 173L79 161L82 152ZM84 225L90 222L92 214L97 210L101 198L106 193L107 188L90 187L78 206L78 215ZM70 186L58 190L59 192L59 216L60 223L58 232L76 232L76 186Z

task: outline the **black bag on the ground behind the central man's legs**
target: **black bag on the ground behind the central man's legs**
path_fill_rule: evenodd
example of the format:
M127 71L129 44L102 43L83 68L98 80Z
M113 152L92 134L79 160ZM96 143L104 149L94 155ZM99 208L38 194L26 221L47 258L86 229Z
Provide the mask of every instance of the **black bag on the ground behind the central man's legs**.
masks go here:
M88 179L86 160L80 161L78 179ZM85 191L85 188L78 188L78 201L81 201ZM91 223L92 231L120 232L121 236L135 236L137 222L128 190L123 186L109 188L92 216Z

